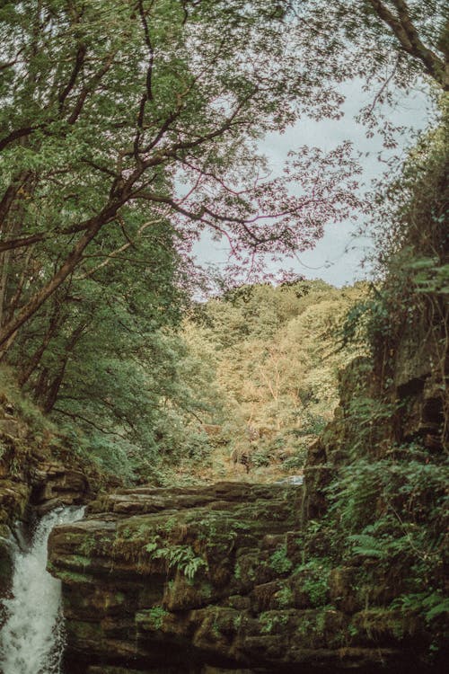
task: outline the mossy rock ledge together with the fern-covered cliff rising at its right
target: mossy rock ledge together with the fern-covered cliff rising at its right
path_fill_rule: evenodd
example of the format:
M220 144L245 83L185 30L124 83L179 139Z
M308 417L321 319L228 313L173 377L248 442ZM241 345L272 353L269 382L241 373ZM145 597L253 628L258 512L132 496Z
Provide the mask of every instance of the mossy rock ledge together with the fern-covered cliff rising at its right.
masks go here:
M341 374L304 489L121 490L56 528L67 670L444 670L445 402L409 341L386 396L368 359Z

